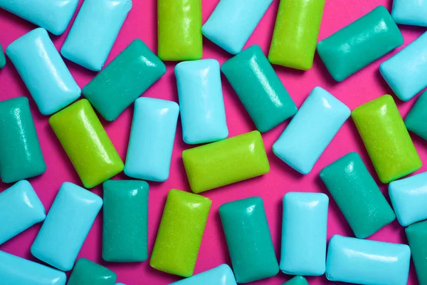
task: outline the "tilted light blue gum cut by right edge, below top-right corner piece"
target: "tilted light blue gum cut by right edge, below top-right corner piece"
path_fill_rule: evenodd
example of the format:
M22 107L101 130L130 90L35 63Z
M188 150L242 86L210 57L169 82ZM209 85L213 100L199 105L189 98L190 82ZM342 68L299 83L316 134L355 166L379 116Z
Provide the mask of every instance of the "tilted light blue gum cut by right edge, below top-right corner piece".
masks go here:
M384 80L399 99L407 101L427 87L427 33L423 33L379 66Z

